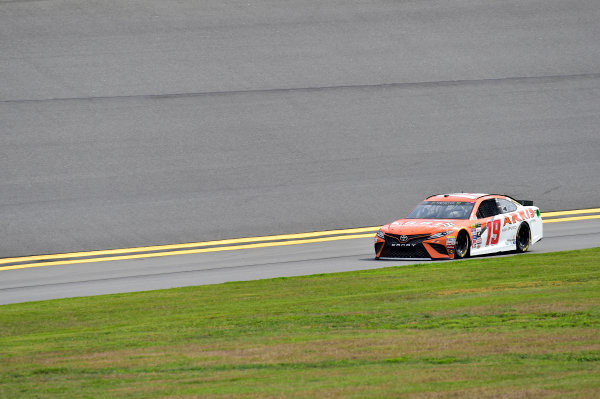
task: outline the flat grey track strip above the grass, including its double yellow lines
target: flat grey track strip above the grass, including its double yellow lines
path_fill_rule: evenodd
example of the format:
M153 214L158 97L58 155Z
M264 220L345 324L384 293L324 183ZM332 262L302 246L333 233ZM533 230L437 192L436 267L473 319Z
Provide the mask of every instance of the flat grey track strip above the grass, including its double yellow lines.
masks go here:
M542 213L532 252L600 246L600 208ZM378 227L0 259L0 304L373 269Z

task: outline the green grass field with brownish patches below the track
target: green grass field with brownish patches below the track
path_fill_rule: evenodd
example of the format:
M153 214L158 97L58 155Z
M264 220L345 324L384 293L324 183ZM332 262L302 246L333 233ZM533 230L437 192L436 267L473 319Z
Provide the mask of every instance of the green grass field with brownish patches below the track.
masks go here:
M34 397L600 397L600 248L0 306Z

